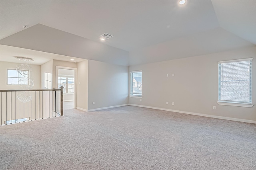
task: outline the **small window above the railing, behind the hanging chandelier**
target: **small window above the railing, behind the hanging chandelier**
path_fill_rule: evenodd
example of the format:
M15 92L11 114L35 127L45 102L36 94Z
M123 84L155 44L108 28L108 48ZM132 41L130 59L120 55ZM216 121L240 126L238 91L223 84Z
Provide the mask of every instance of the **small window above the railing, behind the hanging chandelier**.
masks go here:
M29 85L29 70L7 69L7 85Z

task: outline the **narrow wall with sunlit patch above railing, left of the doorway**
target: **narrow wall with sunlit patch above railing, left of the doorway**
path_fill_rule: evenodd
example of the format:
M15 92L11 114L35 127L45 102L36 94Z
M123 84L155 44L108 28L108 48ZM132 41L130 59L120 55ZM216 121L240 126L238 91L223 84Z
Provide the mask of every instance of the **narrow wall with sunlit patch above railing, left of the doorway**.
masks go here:
M46 88L44 85L45 73L49 73L52 75L52 60L41 65L41 89L52 89L53 85L49 86L49 88Z

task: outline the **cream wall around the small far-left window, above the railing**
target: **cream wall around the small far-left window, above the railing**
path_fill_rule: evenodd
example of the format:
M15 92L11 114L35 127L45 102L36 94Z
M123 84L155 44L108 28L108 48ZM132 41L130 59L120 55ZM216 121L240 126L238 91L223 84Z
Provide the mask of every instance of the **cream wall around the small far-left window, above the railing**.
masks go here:
M7 68L16 69L16 67L20 64L24 64L24 62L20 63L9 63L0 61L0 89L1 90L18 90L18 89L26 89L26 85L7 85ZM30 78L34 82L34 86L32 89L40 89L40 66L29 64L32 67L30 71ZM24 87L24 88L23 88Z

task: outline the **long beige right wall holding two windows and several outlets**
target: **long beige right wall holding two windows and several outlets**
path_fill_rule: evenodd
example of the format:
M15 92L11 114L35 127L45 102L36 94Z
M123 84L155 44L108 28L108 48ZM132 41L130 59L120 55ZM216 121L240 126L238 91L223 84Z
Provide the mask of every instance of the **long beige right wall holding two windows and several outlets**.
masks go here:
M254 58L254 106L218 105L217 62L243 58ZM134 70L142 70L142 102L140 98L129 97L129 104L256 121L256 47L129 67L129 71Z

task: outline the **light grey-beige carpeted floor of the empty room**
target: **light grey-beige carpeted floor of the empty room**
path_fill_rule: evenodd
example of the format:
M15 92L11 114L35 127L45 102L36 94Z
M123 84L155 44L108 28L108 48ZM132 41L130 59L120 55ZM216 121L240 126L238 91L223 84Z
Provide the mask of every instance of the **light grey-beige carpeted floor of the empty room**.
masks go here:
M0 169L255 170L256 125L134 106L0 127Z

